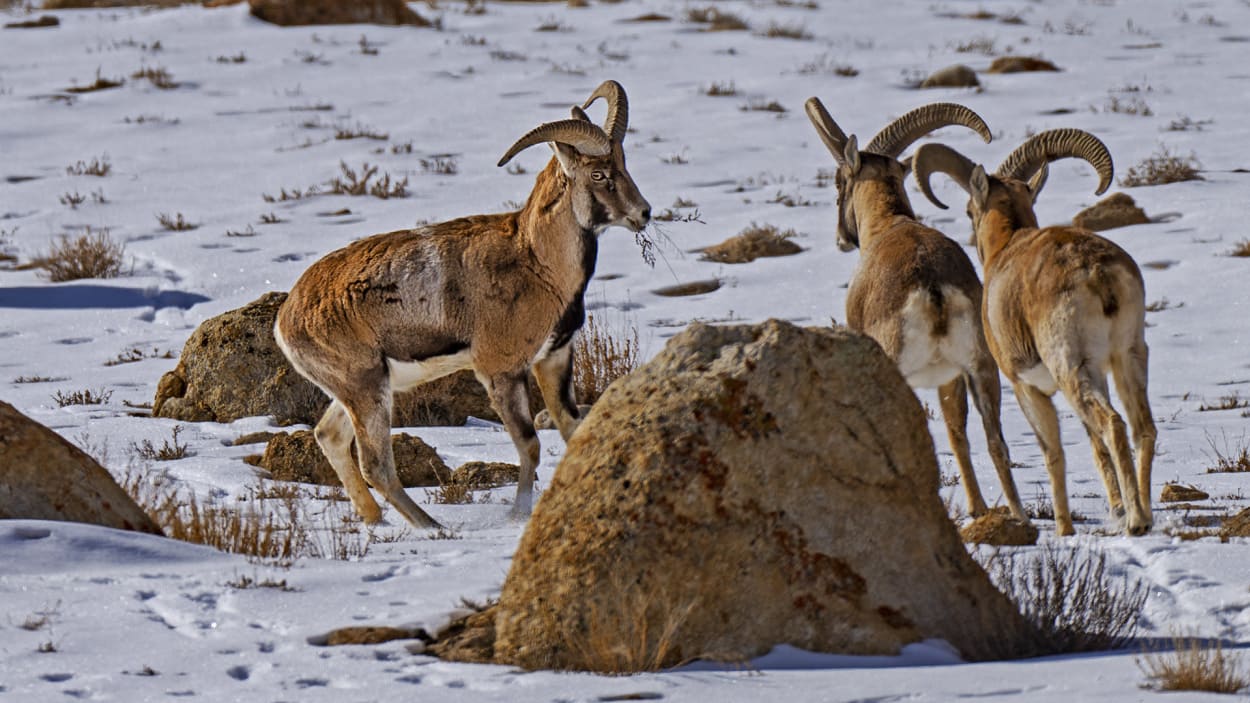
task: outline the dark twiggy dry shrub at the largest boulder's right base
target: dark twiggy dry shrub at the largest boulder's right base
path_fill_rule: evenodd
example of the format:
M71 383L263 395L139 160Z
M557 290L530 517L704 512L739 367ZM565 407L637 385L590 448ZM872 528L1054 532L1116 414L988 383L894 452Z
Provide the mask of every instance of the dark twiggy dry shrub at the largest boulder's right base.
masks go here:
M1039 630L1020 643L1024 655L1122 648L1149 595L1146 584L1109 573L1099 549L1048 544L1014 559L992 552L986 562L995 585Z

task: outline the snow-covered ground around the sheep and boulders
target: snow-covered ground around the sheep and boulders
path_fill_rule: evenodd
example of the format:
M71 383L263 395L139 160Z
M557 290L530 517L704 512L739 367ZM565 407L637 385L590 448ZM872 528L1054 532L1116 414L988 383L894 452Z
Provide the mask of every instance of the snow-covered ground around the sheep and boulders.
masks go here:
M1250 399L1250 259L1226 255L1250 235L1244 215L1250 176L1238 170L1250 168L1250 6L1231 0L811 5L719 3L752 26L721 33L685 20L689 9L706 4L672 0L585 9L489 4L482 14L466 14L456 3L436 10L414 5L440 16L440 31L278 29L241 5L60 11L55 29L0 30L0 253L29 261L59 236L90 226L125 243L128 269L122 278L60 284L31 270L0 270L0 399L89 449L119 477L162 473L201 500L246 494L258 479L241 458L255 447L230 442L265 428L264 418L185 425L180 439L192 455L175 462L145 462L132 449L170 437L176 423L135 417L142 410L134 405L151 402L195 326L265 291L285 290L318 256L352 238L522 201L546 155L524 153L516 163L526 173L511 174L495 168L500 154L536 124L568 115L569 105L608 78L629 91L635 131L626 148L642 193L656 211L679 198L692 201L702 221L661 223L669 241L655 268L641 260L629 234L609 231L590 306L611 323L636 325L648 357L695 319L840 320L856 255L834 245L835 193L818 178L831 159L802 101L819 95L844 129L865 140L908 109L956 100L989 121L995 143L984 145L959 129L938 138L991 166L1029 134L1052 126L1099 135L1120 175L1161 148L1201 161L1204 181L1116 188L1159 221L1109 233L1144 265L1148 300L1168 301L1148 318L1150 397L1160 429L1151 535L1108 534L1084 432L1071 413L1061 417L1072 504L1089 518L1078 525L1076 540L1106 550L1116 573L1149 583L1144 642L1176 630L1250 642L1250 547L1176 539L1170 533L1195 528L1185 524L1186 513L1158 502L1164 482L1179 480L1208 490L1214 513L1250 505L1245 474L1206 473L1218 453L1236 453L1250 442L1245 410L1201 410L1230 397L1231 404ZM986 9L1019 23L960 16ZM672 21L626 21L646 13ZM25 19L16 10L0 16ZM765 36L770 26L801 28L808 36ZM1064 70L982 75L981 91L909 88L915 75L954 63L985 69L990 54L1041 55ZM844 66L858 75L839 75ZM178 85L161 90L130 78L142 68L165 69ZM126 83L65 93L98 74ZM731 85L735 94L708 95L712 85ZM771 101L786 111L744 109ZM386 139L336 140L336 128ZM104 158L111 168L102 178L66 173L80 160ZM409 178L411 196L262 198L324 184L339 175L340 160ZM446 173L452 170L455 173ZM914 194L918 211L966 240L962 194L946 179L935 184L956 206L939 211ZM1038 204L1041 220L1069 219L1094 201L1094 188L1086 165L1056 164ZM81 204L62 203L75 194ZM342 209L350 213L331 214ZM179 213L199 226L170 231L158 224L158 214ZM262 216L281 221L262 224ZM689 253L751 223L794 228L805 250L746 265L711 264ZM711 278L724 285L709 294L652 293ZM141 360L106 365L132 349ZM164 358L166 352L174 358ZM52 380L30 383L39 378ZM111 395L100 405L64 408L52 398L85 389ZM936 408L931 393L921 398ZM1024 464L1016 472L1022 495L1038 503L1049 495L1040 450L1009 390L1002 419L1012 458ZM952 474L940 420L931 429L944 472ZM514 459L496 427L410 432L435 444L451 465ZM540 474L549 478L562 444L551 432L541 438ZM984 440L975 432L972 438L974 460L989 467ZM980 478L992 503L992 472ZM961 488L945 490L962 503ZM962 664L941 643L914 645L895 658L781 648L746 670L700 667L608 678L448 664L398 643L306 642L349 624L435 628L462 597L496 593L521 525L505 515L510 489L494 495L486 504L429 505L455 525L458 539L429 539L392 515L362 558L304 558L290 568L85 525L0 523L0 700L1156 695L1139 688L1138 649ZM414 497L426 499L421 490ZM248 580L288 588L241 587Z

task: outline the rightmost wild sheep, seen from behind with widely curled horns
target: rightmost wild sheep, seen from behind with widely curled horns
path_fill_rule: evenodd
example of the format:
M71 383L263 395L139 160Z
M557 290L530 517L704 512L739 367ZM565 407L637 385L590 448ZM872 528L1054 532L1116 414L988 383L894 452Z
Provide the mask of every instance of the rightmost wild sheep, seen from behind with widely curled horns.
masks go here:
M1111 184L1111 154L1094 135L1055 129L1021 144L994 175L958 151L926 144L916 150L915 178L932 194L932 171L968 191L976 251L985 269L985 330L990 352L1011 380L1016 399L1046 457L1060 535L1072 534L1064 448L1051 397L1064 397L1085 424L1094 464L1112 513L1128 512L1129 534L1151 527L1150 469L1155 423L1146 397L1145 284L1124 249L1075 226L1039 229L1032 204L1046 165L1075 156L1099 174L1098 194ZM1136 470L1124 420L1111 407L1110 370L1136 442Z

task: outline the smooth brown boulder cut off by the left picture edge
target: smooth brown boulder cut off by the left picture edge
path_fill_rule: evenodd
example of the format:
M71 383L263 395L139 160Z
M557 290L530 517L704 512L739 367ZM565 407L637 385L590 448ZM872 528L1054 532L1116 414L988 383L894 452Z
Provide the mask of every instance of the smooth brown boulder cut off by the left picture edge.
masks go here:
M162 534L95 459L4 402L0 519L65 520Z

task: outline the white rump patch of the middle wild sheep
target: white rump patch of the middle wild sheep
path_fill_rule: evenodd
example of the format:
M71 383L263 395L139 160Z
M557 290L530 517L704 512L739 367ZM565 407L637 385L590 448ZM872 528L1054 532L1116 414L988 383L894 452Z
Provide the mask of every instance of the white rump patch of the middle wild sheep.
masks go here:
M942 288L946 334L932 335L936 315L926 291L918 290L902 305L902 346L899 370L911 388L939 388L972 368L976 358L976 306L959 289Z

